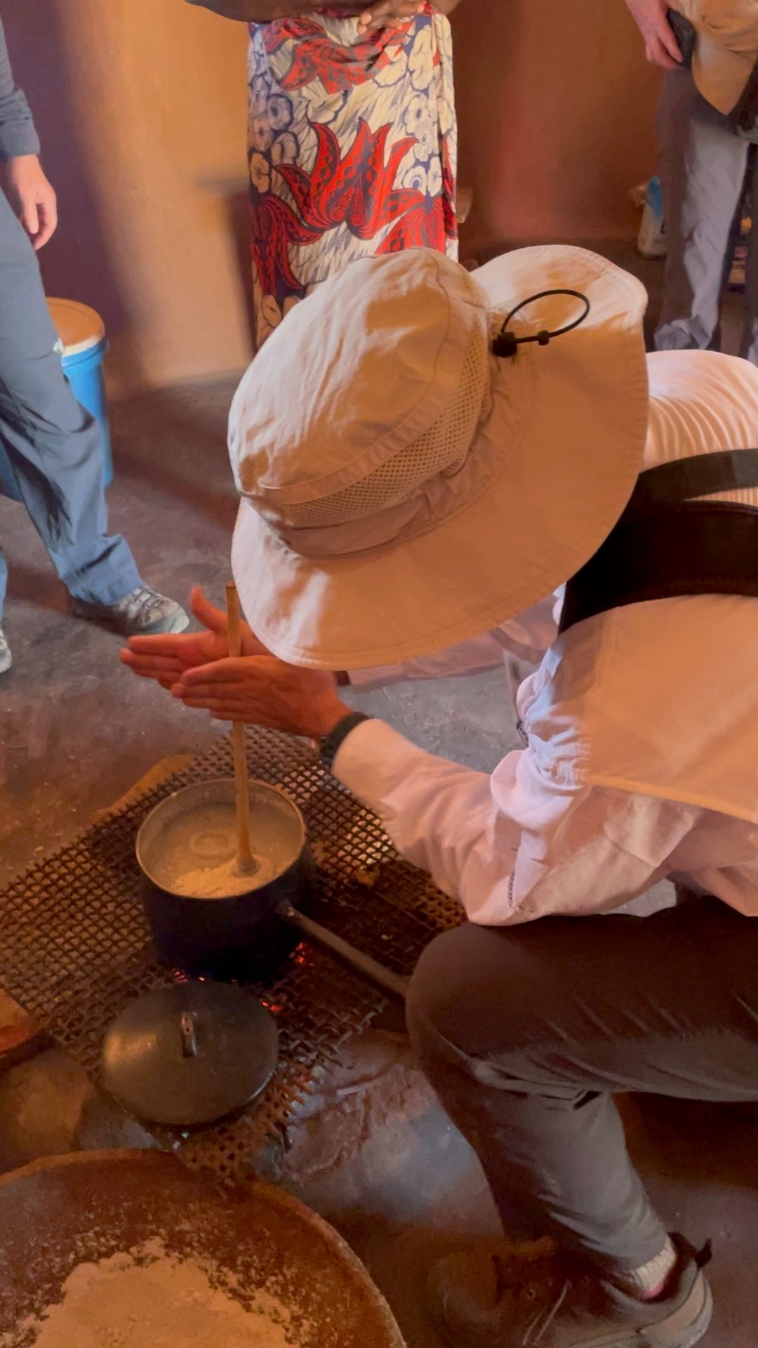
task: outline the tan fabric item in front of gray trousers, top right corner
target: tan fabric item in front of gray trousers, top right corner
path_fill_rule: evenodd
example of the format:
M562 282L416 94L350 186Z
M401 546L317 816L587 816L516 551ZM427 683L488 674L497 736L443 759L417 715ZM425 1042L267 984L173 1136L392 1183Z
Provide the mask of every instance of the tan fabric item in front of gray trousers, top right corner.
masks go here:
M673 8L697 32L692 58L697 92L727 116L758 59L758 0L674 0Z

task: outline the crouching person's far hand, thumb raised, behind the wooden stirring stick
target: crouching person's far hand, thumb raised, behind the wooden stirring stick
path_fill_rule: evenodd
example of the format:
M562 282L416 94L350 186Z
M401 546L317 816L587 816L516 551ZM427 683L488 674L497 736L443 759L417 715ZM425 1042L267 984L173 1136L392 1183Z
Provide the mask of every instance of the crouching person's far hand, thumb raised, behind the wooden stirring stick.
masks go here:
M229 654L227 615L214 608L198 586L190 594L190 608L205 632L132 636L121 651L123 663L139 678L152 678L161 687L171 689L185 670L225 659ZM241 634L245 655L268 654L247 623L241 624Z

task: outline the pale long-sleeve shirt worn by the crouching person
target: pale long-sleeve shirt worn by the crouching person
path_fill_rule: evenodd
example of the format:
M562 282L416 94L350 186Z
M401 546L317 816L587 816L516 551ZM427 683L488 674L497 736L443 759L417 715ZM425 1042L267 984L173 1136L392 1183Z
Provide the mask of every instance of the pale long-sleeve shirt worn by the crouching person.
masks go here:
M758 445L747 363L687 352L650 368L647 462ZM337 778L473 922L614 909L665 878L758 915L758 600L635 604L557 642L553 603L452 651L351 675L368 689L546 651L518 694L525 749L487 775L366 721Z

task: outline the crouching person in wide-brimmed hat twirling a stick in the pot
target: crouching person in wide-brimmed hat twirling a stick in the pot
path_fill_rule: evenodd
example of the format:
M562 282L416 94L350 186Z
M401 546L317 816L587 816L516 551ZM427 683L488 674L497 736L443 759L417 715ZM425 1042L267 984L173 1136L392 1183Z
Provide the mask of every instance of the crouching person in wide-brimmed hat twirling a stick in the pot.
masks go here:
M651 1208L612 1096L758 1099L758 371L646 363L643 287L583 249L475 275L364 259L293 313L229 419L245 654L196 597L209 631L124 659L187 706L320 740L460 899L410 1034L506 1233L550 1239L434 1270L452 1348L691 1348L708 1251ZM492 666L561 584L523 748L492 775L341 700L329 670ZM665 876L677 907L604 915Z

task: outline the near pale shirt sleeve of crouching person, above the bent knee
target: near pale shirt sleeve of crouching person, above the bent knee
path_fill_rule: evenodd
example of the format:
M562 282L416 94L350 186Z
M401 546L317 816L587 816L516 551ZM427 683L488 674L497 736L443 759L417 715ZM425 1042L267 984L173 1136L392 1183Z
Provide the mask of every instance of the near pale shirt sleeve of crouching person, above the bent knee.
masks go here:
M341 745L334 775L472 922L504 926L620 907L668 874L697 809L546 780L530 749L488 776L417 748L382 721Z

